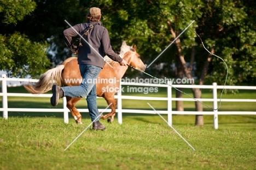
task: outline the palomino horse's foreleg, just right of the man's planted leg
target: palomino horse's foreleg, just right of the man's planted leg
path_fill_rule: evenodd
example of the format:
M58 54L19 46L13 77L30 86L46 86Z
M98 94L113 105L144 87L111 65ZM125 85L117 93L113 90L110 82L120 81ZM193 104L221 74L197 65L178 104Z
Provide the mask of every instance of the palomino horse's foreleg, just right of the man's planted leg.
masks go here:
M110 116L113 116L113 117L111 118L112 121L111 121L111 120L108 120L108 122L113 122L113 120L114 120L114 115L115 115L115 107L117 106L117 100L114 98L114 94L112 94L112 93L105 93L103 97L104 97L104 99L106 99L108 105L109 105L110 103L112 103L112 104L110 105L111 112L108 113L108 114L106 114L106 115L103 115L103 114L102 114L101 119L107 119L107 118L109 118Z

